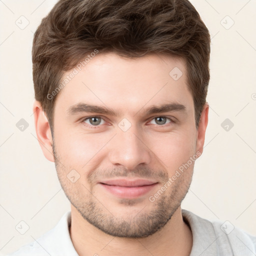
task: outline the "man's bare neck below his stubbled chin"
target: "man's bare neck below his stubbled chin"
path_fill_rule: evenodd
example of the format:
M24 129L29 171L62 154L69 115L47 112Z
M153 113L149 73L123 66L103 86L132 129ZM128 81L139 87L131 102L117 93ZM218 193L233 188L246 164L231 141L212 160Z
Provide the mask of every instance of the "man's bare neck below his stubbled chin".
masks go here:
M154 234L143 238L125 238L102 232L87 222L71 205L69 233L79 256L188 256L192 248L192 233L182 219L180 206Z

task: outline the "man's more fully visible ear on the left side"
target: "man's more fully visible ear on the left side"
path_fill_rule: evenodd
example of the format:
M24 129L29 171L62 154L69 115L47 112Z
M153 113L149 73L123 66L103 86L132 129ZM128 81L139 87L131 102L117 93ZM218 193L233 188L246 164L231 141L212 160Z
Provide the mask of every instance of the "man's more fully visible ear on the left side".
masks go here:
M49 161L54 162L50 125L44 111L42 110L41 103L37 100L33 103L33 113L35 131L42 152Z

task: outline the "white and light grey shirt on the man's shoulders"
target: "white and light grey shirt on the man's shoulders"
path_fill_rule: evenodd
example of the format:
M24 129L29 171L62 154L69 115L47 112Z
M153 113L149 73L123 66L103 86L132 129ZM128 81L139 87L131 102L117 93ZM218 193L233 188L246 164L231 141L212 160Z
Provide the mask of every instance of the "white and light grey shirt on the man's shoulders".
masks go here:
M209 221L182 209L183 220L190 226L193 245L190 256L255 256L256 236L233 227L230 222ZM69 234L71 211L35 241L9 256L79 256Z

